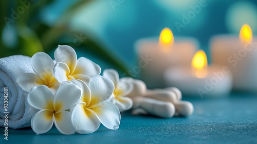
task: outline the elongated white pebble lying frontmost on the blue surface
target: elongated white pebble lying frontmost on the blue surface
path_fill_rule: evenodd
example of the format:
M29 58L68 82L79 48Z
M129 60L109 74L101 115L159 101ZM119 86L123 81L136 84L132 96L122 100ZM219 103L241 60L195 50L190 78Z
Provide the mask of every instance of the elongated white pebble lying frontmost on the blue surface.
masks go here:
M133 108L138 107L144 109L149 114L163 118L173 117L176 112L174 104L146 97L136 97L133 99Z

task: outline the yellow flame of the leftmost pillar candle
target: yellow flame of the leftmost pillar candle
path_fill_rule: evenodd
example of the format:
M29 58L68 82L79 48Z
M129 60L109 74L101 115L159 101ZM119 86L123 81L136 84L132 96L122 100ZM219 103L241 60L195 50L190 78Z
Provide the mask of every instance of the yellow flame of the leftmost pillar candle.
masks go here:
M160 33L159 44L167 47L174 43L174 36L169 28L164 28Z

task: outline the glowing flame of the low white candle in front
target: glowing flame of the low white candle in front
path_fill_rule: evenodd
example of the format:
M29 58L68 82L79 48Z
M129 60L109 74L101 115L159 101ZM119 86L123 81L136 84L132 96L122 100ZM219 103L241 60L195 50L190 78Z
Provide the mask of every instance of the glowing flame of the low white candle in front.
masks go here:
M195 69L195 74L198 78L207 76L207 57L203 50L198 50L192 60L192 67Z

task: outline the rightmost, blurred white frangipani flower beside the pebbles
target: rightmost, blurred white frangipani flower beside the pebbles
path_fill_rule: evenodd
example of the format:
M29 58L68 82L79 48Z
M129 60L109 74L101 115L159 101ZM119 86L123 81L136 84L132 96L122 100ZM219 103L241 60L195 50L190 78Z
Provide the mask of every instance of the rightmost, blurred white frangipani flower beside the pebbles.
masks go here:
M131 98L126 97L133 90L133 85L128 81L119 79L119 74L115 69L105 69L103 76L109 78L114 83L114 93L112 96L112 102L118 106L120 112L131 109L133 101Z

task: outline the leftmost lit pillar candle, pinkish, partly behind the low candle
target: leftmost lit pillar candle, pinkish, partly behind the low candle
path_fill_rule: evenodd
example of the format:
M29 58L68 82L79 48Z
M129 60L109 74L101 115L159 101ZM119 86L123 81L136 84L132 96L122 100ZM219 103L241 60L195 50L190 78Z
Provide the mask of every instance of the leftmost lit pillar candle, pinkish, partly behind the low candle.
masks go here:
M168 67L190 65L198 42L193 38L173 37L169 28L164 28L159 38L140 39L135 43L138 66L132 74L139 74L148 88L163 88L163 73Z

